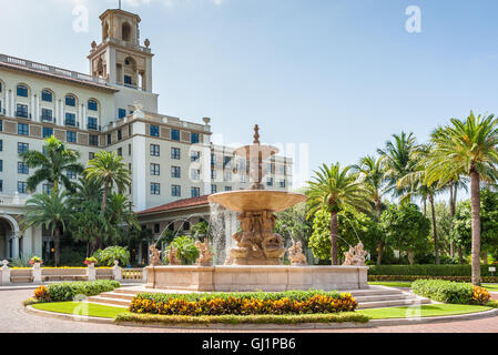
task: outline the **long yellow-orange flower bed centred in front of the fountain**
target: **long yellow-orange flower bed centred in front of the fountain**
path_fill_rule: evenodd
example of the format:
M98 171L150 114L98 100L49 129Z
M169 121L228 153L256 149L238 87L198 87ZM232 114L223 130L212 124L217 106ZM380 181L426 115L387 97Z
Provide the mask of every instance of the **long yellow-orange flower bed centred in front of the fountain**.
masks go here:
M160 315L282 315L353 312L350 294L319 291L283 293L139 294L130 312Z

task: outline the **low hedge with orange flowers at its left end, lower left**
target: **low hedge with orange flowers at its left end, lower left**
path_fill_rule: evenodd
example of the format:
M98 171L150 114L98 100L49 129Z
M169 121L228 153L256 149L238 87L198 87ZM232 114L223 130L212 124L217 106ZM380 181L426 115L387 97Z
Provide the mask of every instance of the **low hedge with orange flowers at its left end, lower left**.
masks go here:
M34 298L38 302L67 302L73 301L77 295L96 296L118 287L121 287L121 284L113 280L57 283L34 290Z

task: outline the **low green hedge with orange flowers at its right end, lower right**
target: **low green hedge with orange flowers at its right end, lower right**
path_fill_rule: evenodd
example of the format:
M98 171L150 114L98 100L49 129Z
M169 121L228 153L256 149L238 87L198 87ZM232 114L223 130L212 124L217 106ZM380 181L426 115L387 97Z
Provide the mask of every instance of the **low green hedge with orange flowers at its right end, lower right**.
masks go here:
M451 304L485 305L491 296L482 287L443 280L417 280L411 291L419 296Z

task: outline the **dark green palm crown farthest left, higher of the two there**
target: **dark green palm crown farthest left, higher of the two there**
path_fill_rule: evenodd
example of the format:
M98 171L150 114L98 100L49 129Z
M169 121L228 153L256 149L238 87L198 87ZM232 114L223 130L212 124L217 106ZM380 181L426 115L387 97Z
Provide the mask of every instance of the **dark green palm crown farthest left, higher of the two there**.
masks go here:
M35 191L37 186L44 181L53 184L55 191L59 190L59 183L61 182L67 190L73 191L73 184L67 176L68 171L79 174L84 170L83 165L78 162L80 154L68 150L53 135L45 139L44 153L29 150L20 153L19 156L29 168L38 169L27 180L28 191Z

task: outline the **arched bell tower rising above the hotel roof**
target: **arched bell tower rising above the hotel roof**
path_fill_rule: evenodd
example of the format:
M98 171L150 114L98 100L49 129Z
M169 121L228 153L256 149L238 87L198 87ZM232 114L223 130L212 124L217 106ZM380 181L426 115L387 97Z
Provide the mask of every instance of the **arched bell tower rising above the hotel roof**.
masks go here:
M100 16L102 41L92 42L90 73L111 84L152 92L151 42L140 43L140 17L121 9Z

